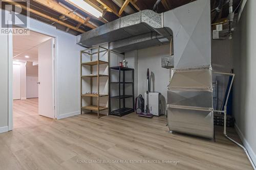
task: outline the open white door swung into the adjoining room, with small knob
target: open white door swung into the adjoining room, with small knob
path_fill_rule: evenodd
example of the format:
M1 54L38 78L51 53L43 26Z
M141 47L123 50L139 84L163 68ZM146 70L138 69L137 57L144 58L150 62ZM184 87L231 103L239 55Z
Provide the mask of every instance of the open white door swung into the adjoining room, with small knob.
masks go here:
M51 38L38 46L38 113L54 118L54 51Z

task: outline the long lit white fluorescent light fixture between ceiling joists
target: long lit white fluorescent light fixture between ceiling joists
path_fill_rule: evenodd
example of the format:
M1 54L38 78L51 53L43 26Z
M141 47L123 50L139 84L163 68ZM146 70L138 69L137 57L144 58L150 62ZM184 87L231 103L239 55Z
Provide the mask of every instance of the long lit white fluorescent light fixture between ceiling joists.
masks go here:
M78 9L86 13L89 13L97 18L102 16L102 13L100 11L98 11L97 9L95 9L94 7L92 7L90 4L88 4L83 0L66 0L66 1L72 4L73 6L77 7Z

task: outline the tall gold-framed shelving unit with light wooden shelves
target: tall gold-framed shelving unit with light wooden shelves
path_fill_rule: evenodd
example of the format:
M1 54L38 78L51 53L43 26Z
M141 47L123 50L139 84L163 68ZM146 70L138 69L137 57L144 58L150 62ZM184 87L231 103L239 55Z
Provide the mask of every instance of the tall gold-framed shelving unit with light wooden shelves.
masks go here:
M101 50L103 49L103 50ZM96 51L96 52L95 52ZM102 61L100 60L100 53L102 52L106 52L107 55L108 55L108 61ZM83 57L83 54L86 54L87 56L90 56L90 61L88 62L83 62L82 60L82 57ZM99 79L100 77L109 77L109 75L102 75L99 73L99 67L101 64L108 64L108 67L110 67L109 65L109 49L108 48L104 48L102 46L95 46L95 47L91 47L91 48L88 48L86 50L82 50L81 53L80 53L80 63L81 63L81 66L80 66L80 75L81 75L81 114L82 114L82 110L90 110L91 112L92 111L97 111L97 114L98 114L98 118L99 118L99 111L101 110L106 110L106 109L109 109L108 107L102 107L102 106L99 106L99 100L101 97L103 96L109 96L109 94L100 94L100 91L99 91ZM93 55L97 55L97 60L93 60ZM90 66L90 72L91 74L89 75L82 75L82 67L84 65L88 65ZM93 66L97 66L97 74L93 74ZM84 78L90 78L91 79L91 90L90 90L90 93L82 93L82 79ZM97 93L93 93L93 78L97 78ZM89 106L82 106L82 100L83 98L91 98L91 104ZM97 105L93 105L93 98L97 98Z

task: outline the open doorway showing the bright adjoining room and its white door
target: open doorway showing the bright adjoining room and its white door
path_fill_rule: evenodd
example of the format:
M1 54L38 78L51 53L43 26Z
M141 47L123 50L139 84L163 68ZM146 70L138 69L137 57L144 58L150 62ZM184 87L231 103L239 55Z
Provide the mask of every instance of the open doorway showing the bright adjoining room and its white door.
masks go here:
M51 121L55 118L54 38L33 31L13 35L12 64L13 128Z

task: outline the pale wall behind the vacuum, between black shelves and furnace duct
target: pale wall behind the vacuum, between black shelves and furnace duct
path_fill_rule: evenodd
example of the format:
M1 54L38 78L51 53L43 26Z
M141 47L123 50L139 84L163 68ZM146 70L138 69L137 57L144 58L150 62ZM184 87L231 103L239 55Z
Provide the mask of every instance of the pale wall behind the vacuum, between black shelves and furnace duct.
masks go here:
M125 53L128 65L135 70L135 95L146 92L146 71L150 69L150 75L154 74L154 82L151 80L151 91L160 92L165 100L167 98L167 85L169 82L169 69L161 67L161 57L169 55L169 45L153 46L138 51Z

